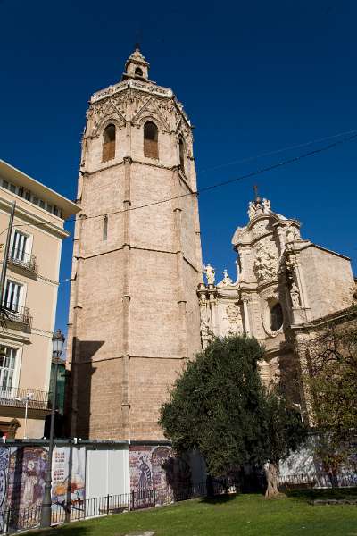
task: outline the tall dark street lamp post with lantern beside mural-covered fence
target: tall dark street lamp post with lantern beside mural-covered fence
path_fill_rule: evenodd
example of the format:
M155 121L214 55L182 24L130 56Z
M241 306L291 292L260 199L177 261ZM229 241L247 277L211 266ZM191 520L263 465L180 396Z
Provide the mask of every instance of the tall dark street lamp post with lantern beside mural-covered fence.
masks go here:
M46 467L46 477L45 477L45 491L44 499L42 501L42 512L41 512L41 527L50 527L51 526L51 487L52 487L52 455L54 452L54 415L55 415L55 405L57 397L57 374L58 374L58 362L60 356L62 356L64 344L64 335L61 330L57 330L52 337L52 355L54 356L54 396L52 399L52 408L51 408L51 426L50 426L50 442L48 446L48 459Z

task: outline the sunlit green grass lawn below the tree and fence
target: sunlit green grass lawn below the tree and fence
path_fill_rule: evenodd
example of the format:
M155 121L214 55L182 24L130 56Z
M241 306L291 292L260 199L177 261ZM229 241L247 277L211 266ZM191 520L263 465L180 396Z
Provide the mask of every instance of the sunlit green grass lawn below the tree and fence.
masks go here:
M357 505L312 506L311 498L324 498L324 493L295 492L271 501L260 495L194 499L31 534L122 536L154 531L155 536L357 536Z

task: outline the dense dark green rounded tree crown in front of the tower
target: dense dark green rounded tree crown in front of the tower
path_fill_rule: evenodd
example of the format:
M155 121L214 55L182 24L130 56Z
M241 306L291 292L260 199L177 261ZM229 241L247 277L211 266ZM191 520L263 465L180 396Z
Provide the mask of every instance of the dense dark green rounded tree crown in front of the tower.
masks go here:
M162 406L165 435L179 451L198 448L212 475L277 463L303 440L300 415L262 385L256 339L214 339L189 362Z

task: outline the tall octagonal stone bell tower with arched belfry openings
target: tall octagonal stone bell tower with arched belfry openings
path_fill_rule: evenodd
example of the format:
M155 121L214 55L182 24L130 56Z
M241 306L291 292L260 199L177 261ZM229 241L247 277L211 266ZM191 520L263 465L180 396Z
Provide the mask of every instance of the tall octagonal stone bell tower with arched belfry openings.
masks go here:
M83 439L162 439L160 406L201 348L192 128L148 70L137 47L87 111L68 341Z

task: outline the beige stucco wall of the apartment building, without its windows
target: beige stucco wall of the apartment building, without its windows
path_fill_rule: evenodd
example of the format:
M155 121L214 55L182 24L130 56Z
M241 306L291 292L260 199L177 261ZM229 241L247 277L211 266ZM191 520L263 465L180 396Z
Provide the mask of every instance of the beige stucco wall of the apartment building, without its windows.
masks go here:
M4 164L2 163L3 166ZM7 166L5 169L6 180L11 181L12 168ZM2 184L1 178L0 173L0 184ZM30 178L25 176L24 180L26 180L26 187L29 188ZM13 182L21 184L21 172L16 171ZM36 182L35 186L38 191L41 185ZM46 188L43 187L41 197L46 200L46 196ZM52 191L51 196L55 196ZM12 389L6 397L23 398L26 394L33 393L34 400L46 401L51 370L51 339L54 332L62 239L66 238L68 233L63 230L63 221L58 216L48 213L0 186L0 230L4 230L0 243L4 244L6 240L10 204L13 201L16 202L16 210L12 236L15 230L19 230L28 237L30 247L27 249L27 254L35 255L37 270L30 272L12 262L7 265L6 281L11 280L21 284L20 306L29 308L32 320L29 326L5 320L0 328L0 345L17 349ZM57 199L57 203L61 207L61 199ZM73 208L75 208L74 205ZM4 247L0 250L0 268L3 266L3 260ZM45 407L43 409L29 407L27 422L29 438L43 436L44 419L47 413ZM2 396L0 396L0 421L9 422L17 419L20 423L16 432L17 438L24 435L24 414L23 405L16 407L14 403L4 406Z

